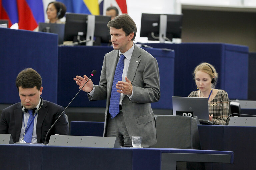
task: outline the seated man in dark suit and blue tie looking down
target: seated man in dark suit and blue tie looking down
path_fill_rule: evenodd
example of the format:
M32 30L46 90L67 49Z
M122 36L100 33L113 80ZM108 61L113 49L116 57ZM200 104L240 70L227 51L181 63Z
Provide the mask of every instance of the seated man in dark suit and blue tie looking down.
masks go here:
M2 111L0 134L11 134L14 142L42 143L47 131L56 121L64 108L43 100L42 78L32 68L22 70L16 78L21 102ZM64 113L48 134L68 135L69 127Z

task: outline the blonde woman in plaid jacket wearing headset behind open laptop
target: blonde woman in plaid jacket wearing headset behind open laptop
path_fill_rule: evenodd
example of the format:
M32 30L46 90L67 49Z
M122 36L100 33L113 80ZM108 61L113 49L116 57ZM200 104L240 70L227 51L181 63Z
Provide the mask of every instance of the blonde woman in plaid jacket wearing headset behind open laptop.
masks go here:
M194 80L197 91L188 97L207 97L209 107L209 120L215 125L225 125L229 115L228 94L224 90L214 89L218 73L209 63L201 63L194 70Z

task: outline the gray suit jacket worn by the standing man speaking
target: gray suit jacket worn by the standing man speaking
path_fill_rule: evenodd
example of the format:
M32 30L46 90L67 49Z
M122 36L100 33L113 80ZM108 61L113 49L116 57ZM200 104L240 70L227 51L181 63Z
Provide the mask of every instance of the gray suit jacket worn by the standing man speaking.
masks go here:
M100 84L94 85L94 95L92 98L89 96L90 100L107 100L104 136L118 57L118 50L113 50L105 55ZM127 78L132 82L133 96L132 99L129 99L127 95L124 95L122 110L129 136L142 136L142 147L152 146L156 143L156 128L150 103L157 102L160 98L159 69L156 59L135 45Z

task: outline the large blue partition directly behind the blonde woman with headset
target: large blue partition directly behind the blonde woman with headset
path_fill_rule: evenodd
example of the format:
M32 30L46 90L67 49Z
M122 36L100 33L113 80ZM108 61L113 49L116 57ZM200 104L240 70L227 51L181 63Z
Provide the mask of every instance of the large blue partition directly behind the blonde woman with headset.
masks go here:
M219 74L216 88L227 91L230 99L247 100L249 51L247 46L223 43L146 43L146 45L175 51L175 96L188 96L191 91L197 90L192 73L198 64L208 62Z

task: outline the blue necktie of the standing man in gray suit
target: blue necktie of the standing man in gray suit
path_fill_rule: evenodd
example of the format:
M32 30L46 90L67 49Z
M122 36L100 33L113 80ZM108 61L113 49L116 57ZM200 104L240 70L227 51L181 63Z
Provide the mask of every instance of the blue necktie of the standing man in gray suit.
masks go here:
M110 97L110 104L109 104L109 113L111 118L113 119L119 113L119 100L120 100L120 93L116 90L116 83L118 81L122 81L123 69L124 69L124 58L123 54L120 55L119 62L116 65L115 76L112 85L111 97Z

